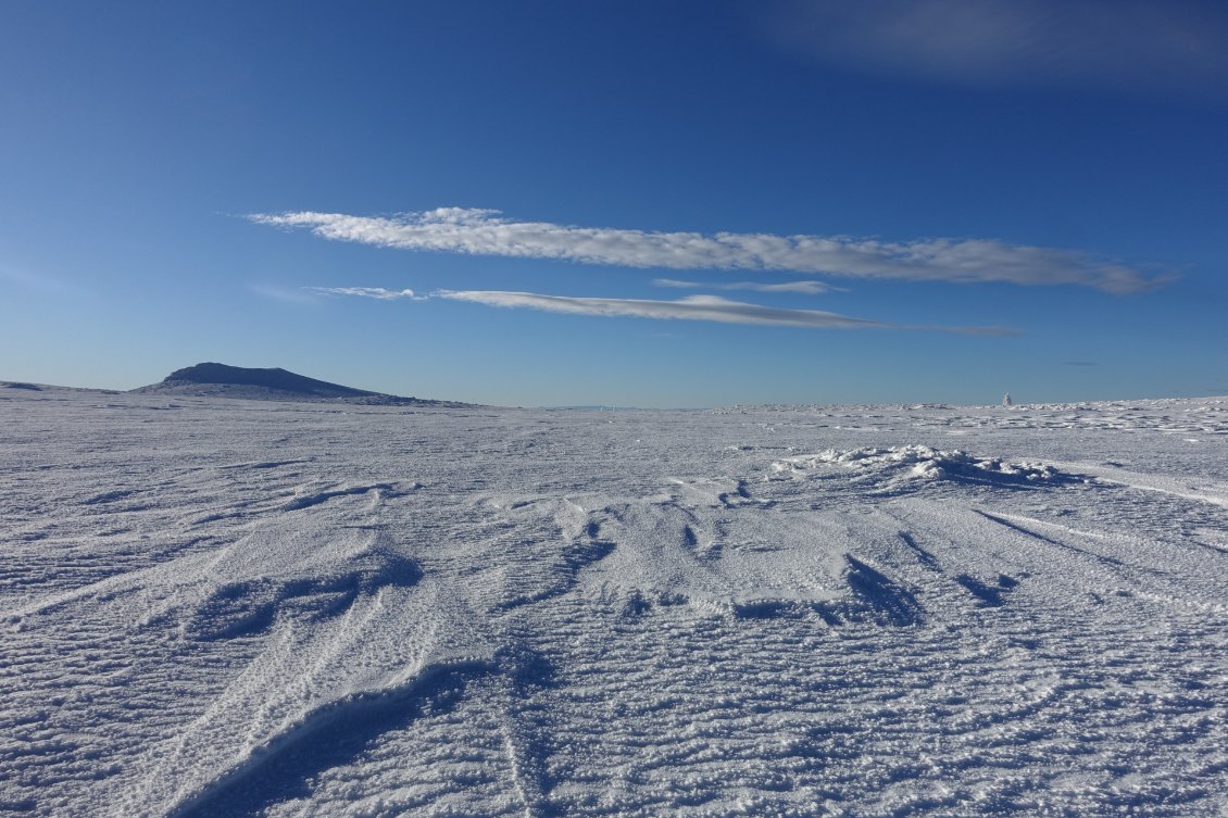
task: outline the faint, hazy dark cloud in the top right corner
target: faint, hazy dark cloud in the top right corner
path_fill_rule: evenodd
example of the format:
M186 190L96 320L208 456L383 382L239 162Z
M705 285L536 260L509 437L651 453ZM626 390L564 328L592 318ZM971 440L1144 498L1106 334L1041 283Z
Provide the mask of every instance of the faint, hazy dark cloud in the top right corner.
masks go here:
M1228 9L1199 0L786 0L786 48L846 68L962 85L1216 93Z

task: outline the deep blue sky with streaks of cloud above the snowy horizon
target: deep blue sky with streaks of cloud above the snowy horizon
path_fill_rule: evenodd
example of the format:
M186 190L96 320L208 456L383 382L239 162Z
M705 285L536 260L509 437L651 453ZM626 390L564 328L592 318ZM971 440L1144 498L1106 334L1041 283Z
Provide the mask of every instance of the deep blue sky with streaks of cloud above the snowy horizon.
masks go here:
M0 6L0 378L1228 393L1228 9Z

